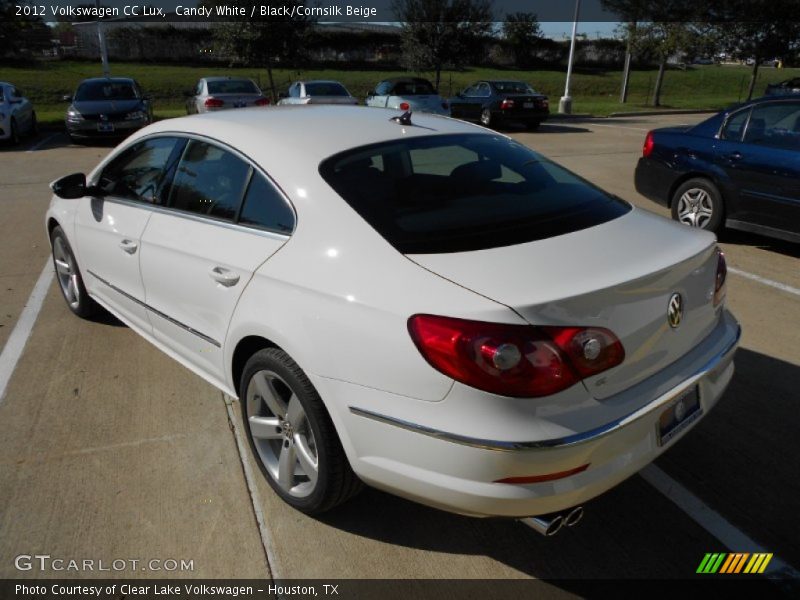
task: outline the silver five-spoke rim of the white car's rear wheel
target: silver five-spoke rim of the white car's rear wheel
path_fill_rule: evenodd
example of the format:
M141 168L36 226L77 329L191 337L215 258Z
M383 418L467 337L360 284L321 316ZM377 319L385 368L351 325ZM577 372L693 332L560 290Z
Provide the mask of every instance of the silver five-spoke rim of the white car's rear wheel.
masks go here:
M286 493L314 492L319 456L314 433L297 395L273 371L255 373L247 389L247 423L267 472Z

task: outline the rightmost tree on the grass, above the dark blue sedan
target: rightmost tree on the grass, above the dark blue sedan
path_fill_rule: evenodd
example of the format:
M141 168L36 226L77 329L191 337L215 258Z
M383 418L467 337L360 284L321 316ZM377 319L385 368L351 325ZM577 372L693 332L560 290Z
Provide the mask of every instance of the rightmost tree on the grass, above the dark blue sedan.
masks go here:
M748 100L753 97L761 62L786 58L800 47L796 11L796 0L730 0L714 15L725 51L742 60L754 61ZM741 20L753 16L758 20Z

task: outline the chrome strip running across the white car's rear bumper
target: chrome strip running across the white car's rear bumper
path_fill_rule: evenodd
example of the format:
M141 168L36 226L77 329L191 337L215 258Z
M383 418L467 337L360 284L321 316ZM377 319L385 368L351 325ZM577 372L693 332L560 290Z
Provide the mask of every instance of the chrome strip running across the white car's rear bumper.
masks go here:
M627 415L619 417L609 423L606 423L605 425L595 427L594 429L590 429L589 431L583 431L580 433L575 433L560 438L551 438L547 440L537 440L537 441L521 441L521 442L486 440L481 438L464 436L457 433L450 433L439 429L434 429L432 427L419 425L417 423L411 423L410 421L405 421L403 419L398 419L396 417L389 417L386 415L382 415L362 408L357 408L354 406L350 406L348 408L352 414L357 415L359 417L364 417L366 419L371 419L373 421L378 421L379 423L385 423L387 425L393 425L394 427L399 427L400 429L405 429L407 431L412 431L414 433L419 433L422 435L433 437L439 440L443 440L445 442L460 444L462 446L470 446L472 448L479 448L481 450L494 450L498 452L517 452L520 450L522 451L544 450L548 448L565 448L565 447L577 446L580 444L585 444L587 442L596 441L602 437L614 433L615 431L618 431L619 429L622 429L623 427L626 427L627 425L630 425L631 423L634 423L635 421L638 421L645 415L668 404L676 396L682 394L691 386L695 385L704 376L709 374L713 375L722 371L725 367L727 367L730 364L731 360L733 359L733 353L736 350L737 346L739 345L739 340L741 338L741 335L742 335L742 328L737 324L736 335L734 339L731 340L722 349L721 352L719 352L716 356L711 358L702 367L697 369L693 375L685 379L682 383L675 386L671 390L665 392L664 394L661 394L658 398L656 398L652 402L649 402L643 407L631 413L628 413Z

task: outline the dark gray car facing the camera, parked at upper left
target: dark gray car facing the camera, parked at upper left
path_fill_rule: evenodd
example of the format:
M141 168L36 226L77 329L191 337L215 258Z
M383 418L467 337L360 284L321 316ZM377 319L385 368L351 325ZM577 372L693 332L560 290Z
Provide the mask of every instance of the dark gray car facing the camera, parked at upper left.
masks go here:
M153 121L153 107L142 88L128 77L84 79L70 103L64 124L73 140L126 137Z

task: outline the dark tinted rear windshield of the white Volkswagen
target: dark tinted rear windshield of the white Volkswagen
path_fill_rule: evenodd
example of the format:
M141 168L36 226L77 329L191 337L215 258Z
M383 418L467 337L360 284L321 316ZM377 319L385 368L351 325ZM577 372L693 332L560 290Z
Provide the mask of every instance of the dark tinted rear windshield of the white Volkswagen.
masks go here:
M404 254L511 246L630 210L525 146L491 134L364 146L326 159L320 174Z

